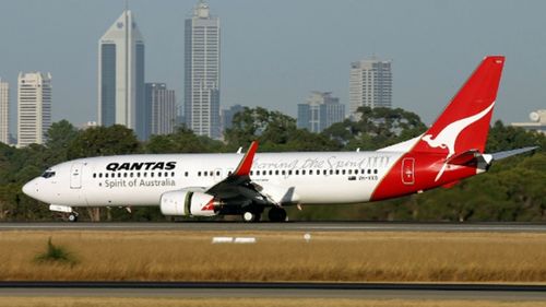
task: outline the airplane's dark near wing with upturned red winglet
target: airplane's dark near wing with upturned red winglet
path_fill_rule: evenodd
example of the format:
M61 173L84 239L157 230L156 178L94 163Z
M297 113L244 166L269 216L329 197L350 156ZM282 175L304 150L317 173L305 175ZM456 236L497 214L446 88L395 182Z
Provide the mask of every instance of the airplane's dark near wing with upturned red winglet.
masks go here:
M258 142L250 144L245 156L234 173L229 174L224 180L209 188L205 192L219 199L245 198L250 200L264 200L265 198L258 192L257 187L250 180L250 168L254 160Z

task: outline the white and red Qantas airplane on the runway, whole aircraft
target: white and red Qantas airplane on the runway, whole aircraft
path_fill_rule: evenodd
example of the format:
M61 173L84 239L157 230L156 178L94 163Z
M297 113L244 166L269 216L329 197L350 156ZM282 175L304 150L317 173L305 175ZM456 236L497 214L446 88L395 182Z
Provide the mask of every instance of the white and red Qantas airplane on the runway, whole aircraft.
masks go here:
M422 135L373 152L135 154L48 168L23 192L78 220L75 208L156 205L168 216L287 220L285 206L364 203L451 187L494 161L535 147L484 153L505 64L488 56Z

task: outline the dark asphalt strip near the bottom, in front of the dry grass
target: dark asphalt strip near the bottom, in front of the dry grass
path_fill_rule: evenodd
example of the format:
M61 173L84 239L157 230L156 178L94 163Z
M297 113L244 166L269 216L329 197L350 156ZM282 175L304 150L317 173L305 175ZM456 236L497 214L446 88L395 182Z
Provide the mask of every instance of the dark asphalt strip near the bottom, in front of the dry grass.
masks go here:
M546 286L375 283L0 282L0 297L183 297L544 300Z

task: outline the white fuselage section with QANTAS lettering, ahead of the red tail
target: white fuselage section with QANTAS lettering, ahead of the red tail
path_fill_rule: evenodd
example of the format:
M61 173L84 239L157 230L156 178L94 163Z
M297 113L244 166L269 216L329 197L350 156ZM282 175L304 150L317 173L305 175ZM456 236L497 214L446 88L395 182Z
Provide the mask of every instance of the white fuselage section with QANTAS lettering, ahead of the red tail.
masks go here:
M300 152L256 154L250 178L280 204L358 203L370 200L403 153ZM23 190L70 206L159 205L163 193L203 191L225 179L241 154L143 154L88 157L58 164ZM48 177L48 178L46 178Z

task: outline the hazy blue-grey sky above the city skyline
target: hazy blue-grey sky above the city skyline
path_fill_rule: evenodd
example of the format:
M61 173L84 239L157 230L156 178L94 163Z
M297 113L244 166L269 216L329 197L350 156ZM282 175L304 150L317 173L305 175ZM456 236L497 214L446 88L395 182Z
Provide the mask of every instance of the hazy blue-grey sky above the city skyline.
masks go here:
M166 82L179 104L183 21L197 1L128 1L145 40L145 80ZM546 108L546 1L207 2L221 19L222 108L295 116L311 91L323 91L348 109L351 62L376 56L392 60L393 107L430 123L486 55L507 57L494 119L527 121ZM0 78L10 83L12 118L19 72L41 71L52 74L54 121L96 120L98 39L124 5L0 0Z

